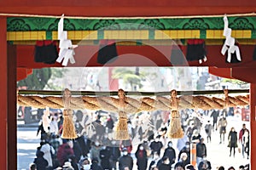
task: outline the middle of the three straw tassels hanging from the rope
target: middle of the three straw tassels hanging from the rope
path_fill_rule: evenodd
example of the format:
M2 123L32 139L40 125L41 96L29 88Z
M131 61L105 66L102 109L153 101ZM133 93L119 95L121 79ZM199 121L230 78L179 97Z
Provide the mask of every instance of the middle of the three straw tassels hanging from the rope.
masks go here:
M125 92L119 89L119 120L114 128L114 139L127 140L130 139L128 133L127 115L125 113Z

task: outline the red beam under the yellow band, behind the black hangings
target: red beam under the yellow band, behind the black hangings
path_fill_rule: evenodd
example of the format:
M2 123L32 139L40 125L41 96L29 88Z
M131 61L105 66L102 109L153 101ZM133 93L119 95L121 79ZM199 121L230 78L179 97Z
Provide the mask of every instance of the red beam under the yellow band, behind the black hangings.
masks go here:
M253 60L254 45L241 45L241 63L230 64L225 61L226 57L220 54L222 46L207 46L207 62L201 65L197 60L185 62L183 66L215 66L218 68L231 67L256 67L256 61ZM79 66L103 66L97 63L97 51L99 46L86 45L75 48L74 65ZM117 46L119 59L116 59L108 66L173 66L171 59L171 46ZM34 46L17 46L17 67L24 68L43 68L60 67L61 64L46 65L36 63L33 59ZM186 55L186 47L183 47L183 54ZM107 65L105 65L107 66Z

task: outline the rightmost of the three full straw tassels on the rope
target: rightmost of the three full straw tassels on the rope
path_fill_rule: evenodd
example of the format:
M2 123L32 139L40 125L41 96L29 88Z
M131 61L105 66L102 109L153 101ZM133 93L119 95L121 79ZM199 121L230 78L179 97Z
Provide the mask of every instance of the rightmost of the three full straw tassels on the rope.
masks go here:
M178 110L178 103L177 103L177 91L171 91L171 122L167 131L168 138L171 139L181 139L183 138L183 129L181 126L181 119Z

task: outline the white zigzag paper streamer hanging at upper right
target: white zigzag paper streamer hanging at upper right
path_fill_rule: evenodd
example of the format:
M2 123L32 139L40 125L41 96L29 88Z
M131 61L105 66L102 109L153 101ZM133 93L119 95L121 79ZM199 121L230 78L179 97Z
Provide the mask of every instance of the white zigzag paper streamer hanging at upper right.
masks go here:
M231 62L231 54L235 54L236 52L236 59L241 61L241 55L240 55L240 50L238 46L235 44L235 38L231 37L231 28L229 28L229 20L227 15L224 15L224 32L223 35L226 37L226 40L224 42L224 45L221 49L221 54L225 54L226 52L228 53L227 57L227 62Z

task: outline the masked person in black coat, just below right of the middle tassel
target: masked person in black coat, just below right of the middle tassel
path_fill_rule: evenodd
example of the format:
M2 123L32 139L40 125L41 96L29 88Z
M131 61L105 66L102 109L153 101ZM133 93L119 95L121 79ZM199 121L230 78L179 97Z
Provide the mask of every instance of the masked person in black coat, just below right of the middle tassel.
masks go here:
M148 167L148 157L147 157L147 151L143 147L143 144L139 144L137 146L135 156L137 158L137 169L146 170Z

